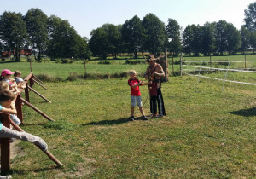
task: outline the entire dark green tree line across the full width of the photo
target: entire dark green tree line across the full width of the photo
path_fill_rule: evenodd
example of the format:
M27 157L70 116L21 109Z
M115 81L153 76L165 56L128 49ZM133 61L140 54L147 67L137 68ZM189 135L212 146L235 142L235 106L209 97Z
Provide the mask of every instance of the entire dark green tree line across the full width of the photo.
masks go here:
M147 14L143 20L135 15L123 25L104 24L90 32L90 40L82 38L67 20L40 9L30 9L26 15L4 12L0 16L0 50L12 51L15 61L20 61L20 49L32 49L35 57L48 55L56 58L86 58L96 56L106 59L110 54L149 52L159 55L168 49L172 55L234 55L256 49L256 3L245 9L245 25L237 30L225 20L206 22L203 26L188 25L184 29L176 20L167 25L156 15Z

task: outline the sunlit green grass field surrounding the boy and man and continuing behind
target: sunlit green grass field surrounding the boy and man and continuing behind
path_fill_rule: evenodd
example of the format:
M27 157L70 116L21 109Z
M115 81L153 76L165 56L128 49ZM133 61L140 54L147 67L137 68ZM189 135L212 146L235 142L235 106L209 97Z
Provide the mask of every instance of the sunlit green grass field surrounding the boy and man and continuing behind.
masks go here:
M18 68L24 76L30 72L25 62L0 66L13 71ZM36 75L49 73L66 78L69 72L84 72L82 64L32 66ZM143 73L146 66L134 68ZM124 64L91 64L91 68L98 68L98 72L130 70ZM236 80L243 78L244 74L237 75ZM170 77L162 87L166 117L143 121L136 108L138 119L131 122L127 79L47 82L47 90L35 84L34 89L52 103L31 92L32 105L55 122L25 106L21 127L41 136L49 144L49 152L65 166L56 167L37 147L20 142L19 155L12 159L9 174L14 178L256 176L256 86L225 83L222 90L222 81L200 78L198 83L197 77ZM250 80L256 82L256 78ZM147 87L140 89L145 101ZM149 114L149 102L144 111Z

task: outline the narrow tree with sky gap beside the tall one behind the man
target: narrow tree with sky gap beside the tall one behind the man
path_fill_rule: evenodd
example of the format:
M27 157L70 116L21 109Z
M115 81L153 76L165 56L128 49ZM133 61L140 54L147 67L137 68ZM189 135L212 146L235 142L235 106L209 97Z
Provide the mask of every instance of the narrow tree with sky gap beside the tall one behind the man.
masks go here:
M166 25L166 34L168 38L167 47L174 55L178 55L182 48L180 39L181 29L181 26L178 25L176 20L168 19L168 24Z

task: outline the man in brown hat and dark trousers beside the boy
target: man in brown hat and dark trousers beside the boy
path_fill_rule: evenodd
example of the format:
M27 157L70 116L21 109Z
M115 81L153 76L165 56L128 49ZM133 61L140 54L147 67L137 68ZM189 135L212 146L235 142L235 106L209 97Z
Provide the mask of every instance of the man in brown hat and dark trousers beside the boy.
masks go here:
M160 78L165 77L165 72L162 66L156 63L154 55L149 55L147 61L149 63L149 66L147 67L147 71L144 74L145 79L147 80L149 78L149 80L152 80L152 85L148 88L150 95L150 113L151 117L153 118L161 118L163 116L166 116L165 104L161 93L160 82Z

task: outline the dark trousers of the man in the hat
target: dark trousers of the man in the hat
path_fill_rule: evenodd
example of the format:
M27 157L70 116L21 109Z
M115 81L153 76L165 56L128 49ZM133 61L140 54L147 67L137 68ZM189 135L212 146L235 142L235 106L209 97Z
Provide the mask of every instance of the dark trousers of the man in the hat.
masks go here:
M161 92L161 88L157 89L157 95L150 96L150 113L157 113L157 106L158 106L158 114L161 116L166 115L165 104Z

